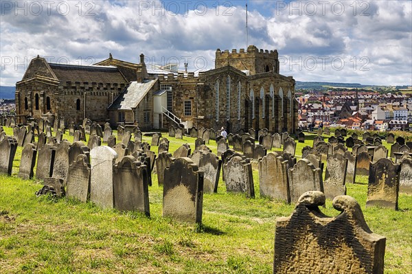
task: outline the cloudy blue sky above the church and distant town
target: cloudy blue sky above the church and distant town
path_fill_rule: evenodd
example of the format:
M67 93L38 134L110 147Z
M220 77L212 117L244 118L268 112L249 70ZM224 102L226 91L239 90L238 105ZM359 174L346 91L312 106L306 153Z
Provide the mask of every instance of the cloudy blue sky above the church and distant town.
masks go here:
M214 68L216 49L247 47L247 1L0 1L0 85L30 59L108 58ZM300 81L412 86L412 1L248 1L248 44L277 49Z

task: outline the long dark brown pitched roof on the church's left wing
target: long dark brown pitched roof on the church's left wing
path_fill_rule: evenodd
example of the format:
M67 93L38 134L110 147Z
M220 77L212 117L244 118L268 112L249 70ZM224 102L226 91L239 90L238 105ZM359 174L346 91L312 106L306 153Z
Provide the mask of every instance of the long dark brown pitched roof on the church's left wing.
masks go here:
M62 65L49 62L60 82L127 83L117 67Z

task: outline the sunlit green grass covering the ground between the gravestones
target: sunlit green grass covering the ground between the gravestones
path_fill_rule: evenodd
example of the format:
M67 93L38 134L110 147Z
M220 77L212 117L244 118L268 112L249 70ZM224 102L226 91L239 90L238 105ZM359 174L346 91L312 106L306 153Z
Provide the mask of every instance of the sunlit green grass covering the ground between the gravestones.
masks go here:
M312 145L312 137L297 143L297 154ZM168 139L170 151L184 143L194 150L194 138ZM216 152L214 141L209 147ZM37 198L41 183L16 177L20 157L18 148L12 176L0 175L0 273L272 273L275 220L295 207L261 198L256 170L256 198L227 194L221 179L217 194L204 194L202 225L161 216L163 189L156 174L150 218L67 198ZM412 273L412 196L400 194L399 210L393 211L365 208L366 193L366 176L347 185L371 230L387 237L385 273ZM321 210L338 214L331 201Z

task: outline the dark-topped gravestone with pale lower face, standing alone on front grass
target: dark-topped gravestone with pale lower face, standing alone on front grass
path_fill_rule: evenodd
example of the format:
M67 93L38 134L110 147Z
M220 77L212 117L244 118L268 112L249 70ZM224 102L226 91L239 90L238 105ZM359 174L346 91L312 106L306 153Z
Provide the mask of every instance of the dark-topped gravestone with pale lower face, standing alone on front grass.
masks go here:
M202 222L203 174L189 158L178 158L165 169L163 216Z

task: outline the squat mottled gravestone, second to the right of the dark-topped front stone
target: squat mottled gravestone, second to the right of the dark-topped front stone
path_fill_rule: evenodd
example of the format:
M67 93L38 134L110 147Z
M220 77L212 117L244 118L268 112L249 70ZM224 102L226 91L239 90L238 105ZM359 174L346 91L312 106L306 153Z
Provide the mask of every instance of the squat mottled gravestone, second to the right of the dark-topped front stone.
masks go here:
M227 192L244 193L254 198L252 166L249 159L234 156L224 165Z

